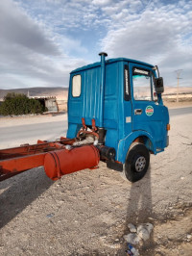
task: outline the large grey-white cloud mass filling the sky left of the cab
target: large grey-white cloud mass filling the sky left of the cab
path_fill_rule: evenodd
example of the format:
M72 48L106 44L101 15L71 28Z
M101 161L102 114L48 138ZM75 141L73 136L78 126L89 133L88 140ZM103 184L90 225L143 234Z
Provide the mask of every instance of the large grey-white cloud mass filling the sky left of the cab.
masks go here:
M80 40L57 38L11 0L0 5L0 88L68 86L69 72L86 64L67 55L85 51Z

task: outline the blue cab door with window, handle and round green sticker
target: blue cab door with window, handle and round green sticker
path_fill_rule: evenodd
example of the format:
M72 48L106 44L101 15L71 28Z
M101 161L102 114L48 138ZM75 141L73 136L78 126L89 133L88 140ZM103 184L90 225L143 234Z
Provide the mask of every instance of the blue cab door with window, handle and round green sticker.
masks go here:
M129 64L132 90L132 131L145 131L156 142L156 150L162 149L163 106L157 103L154 95L155 73L152 67L142 64Z

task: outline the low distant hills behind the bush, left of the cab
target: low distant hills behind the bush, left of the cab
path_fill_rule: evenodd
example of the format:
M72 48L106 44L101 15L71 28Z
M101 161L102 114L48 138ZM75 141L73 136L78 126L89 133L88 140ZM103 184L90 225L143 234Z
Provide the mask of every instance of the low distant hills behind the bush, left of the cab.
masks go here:
M0 89L0 100L9 93L23 93L29 96L38 97L38 96L54 96L59 100L67 100L68 97L68 88L25 88L25 89L12 89L12 90L2 90Z

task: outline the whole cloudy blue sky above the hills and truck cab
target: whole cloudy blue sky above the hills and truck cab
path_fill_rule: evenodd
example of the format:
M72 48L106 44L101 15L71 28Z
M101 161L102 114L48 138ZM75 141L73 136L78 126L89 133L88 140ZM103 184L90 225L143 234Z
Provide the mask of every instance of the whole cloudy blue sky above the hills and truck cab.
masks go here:
M0 0L0 89L68 87L101 51L192 87L192 0Z

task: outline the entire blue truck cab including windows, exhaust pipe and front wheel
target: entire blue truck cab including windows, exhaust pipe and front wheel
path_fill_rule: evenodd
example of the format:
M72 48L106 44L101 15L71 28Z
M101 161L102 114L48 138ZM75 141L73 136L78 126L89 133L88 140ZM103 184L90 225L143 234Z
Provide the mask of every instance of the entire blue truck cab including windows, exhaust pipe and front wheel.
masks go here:
M76 138L82 127L94 130L107 166L135 182L147 172L150 154L169 143L163 80L152 64L100 56L101 62L70 73L67 138Z

